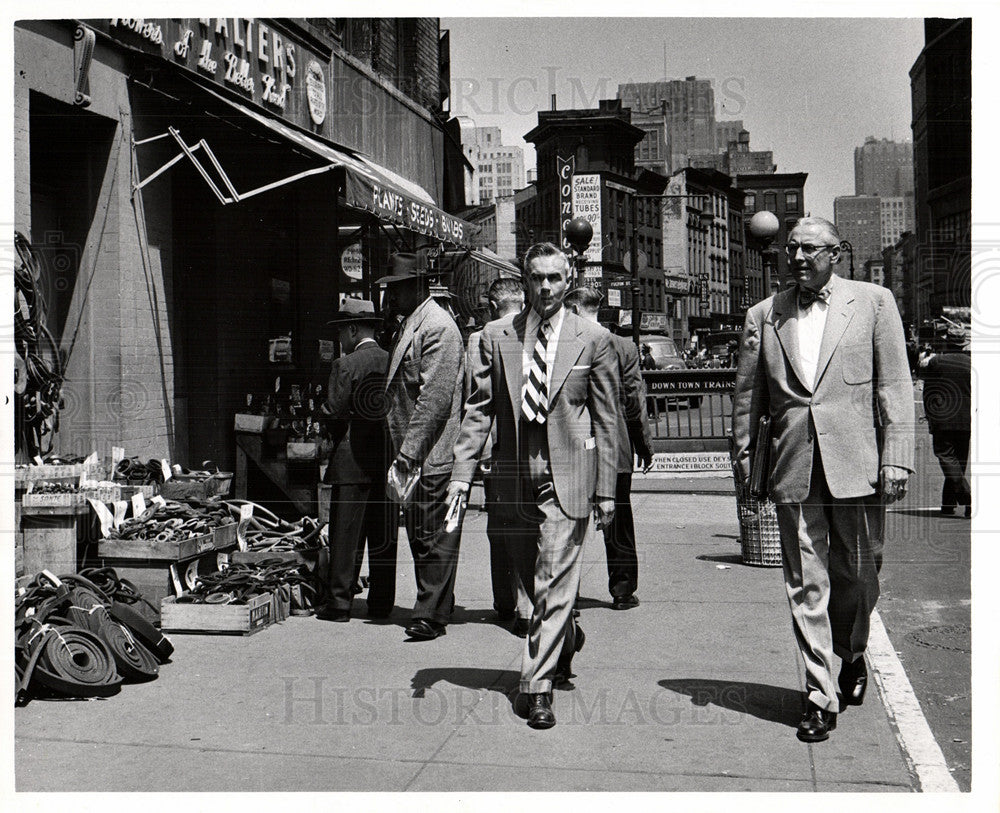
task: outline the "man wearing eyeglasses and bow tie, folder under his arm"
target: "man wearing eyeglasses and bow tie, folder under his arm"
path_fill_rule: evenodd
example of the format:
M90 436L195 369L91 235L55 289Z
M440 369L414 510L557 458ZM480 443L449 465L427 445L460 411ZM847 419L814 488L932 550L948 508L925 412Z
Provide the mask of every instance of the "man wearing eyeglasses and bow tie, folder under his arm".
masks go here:
M770 415L768 490L808 695L797 736L820 742L841 705L864 701L885 505L913 471L913 387L892 293L833 273L836 227L802 218L786 250L795 285L747 312L733 435L747 479Z

